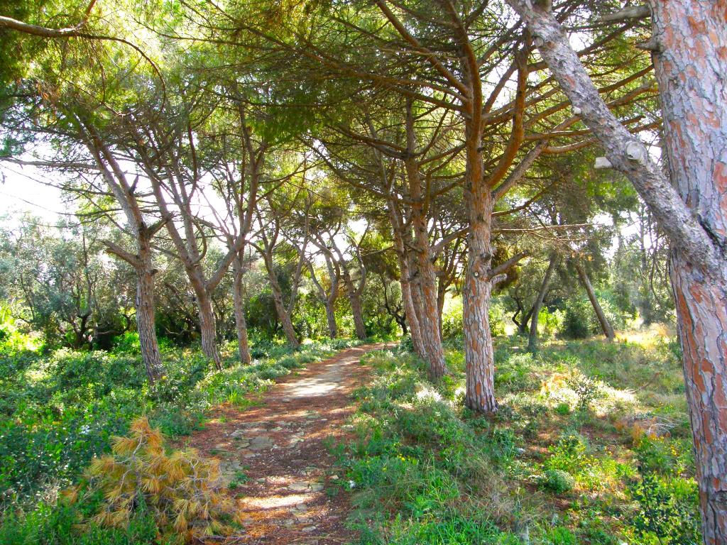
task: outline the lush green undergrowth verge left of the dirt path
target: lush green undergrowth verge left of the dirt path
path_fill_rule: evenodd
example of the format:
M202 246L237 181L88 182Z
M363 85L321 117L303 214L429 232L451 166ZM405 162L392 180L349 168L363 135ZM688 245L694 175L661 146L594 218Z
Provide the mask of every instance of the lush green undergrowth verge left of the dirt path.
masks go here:
M108 452L111 437L126 435L137 416L148 416L166 435L186 435L204 426L212 406L244 408L252 403L250 394L265 391L279 376L356 343L312 342L297 352L258 347L249 366L230 350L222 371L199 352L165 350L166 375L153 387L140 358L124 351L0 355L0 544L152 543L147 534L153 521L143 512L128 530L71 532L73 510L92 506L57 505L57 491L73 483L93 456Z

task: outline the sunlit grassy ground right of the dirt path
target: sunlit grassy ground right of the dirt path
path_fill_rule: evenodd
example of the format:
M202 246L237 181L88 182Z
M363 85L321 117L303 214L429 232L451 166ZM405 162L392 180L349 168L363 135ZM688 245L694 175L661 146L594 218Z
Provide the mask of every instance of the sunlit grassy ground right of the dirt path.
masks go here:
M406 350L366 357L356 440L338 447L358 544L696 544L699 511L678 345L500 338L493 418L430 383Z

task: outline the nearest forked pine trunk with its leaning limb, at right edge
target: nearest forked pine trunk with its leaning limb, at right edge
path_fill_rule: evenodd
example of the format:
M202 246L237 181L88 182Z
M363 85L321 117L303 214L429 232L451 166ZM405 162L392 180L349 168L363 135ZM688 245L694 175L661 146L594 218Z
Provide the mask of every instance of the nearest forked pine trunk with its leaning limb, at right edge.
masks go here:
M648 43L664 116L671 184L608 112L568 36L531 1L507 0L553 75L672 242L671 278L705 545L727 543L727 25L723 2L649 0Z

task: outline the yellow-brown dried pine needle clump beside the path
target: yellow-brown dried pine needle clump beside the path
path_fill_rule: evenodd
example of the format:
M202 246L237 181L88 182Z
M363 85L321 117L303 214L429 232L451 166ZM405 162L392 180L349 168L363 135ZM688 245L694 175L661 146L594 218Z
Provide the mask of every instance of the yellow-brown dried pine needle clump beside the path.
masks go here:
M65 492L68 501L102 493L97 512L84 520L124 528L140 509L150 512L163 537L179 543L228 534L230 502L222 494L220 465L195 449L168 450L146 418L127 437L114 437L111 454L93 459L84 480Z

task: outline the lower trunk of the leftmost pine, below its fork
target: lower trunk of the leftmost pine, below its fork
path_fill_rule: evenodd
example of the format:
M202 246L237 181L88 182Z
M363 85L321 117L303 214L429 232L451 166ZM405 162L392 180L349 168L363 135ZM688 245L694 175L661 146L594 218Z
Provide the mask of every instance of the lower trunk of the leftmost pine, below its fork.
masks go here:
M139 266L137 273L136 320L141 358L146 368L149 382L153 383L161 376L161 353L156 340L154 323L154 273L151 264L151 249L148 244L140 241Z

